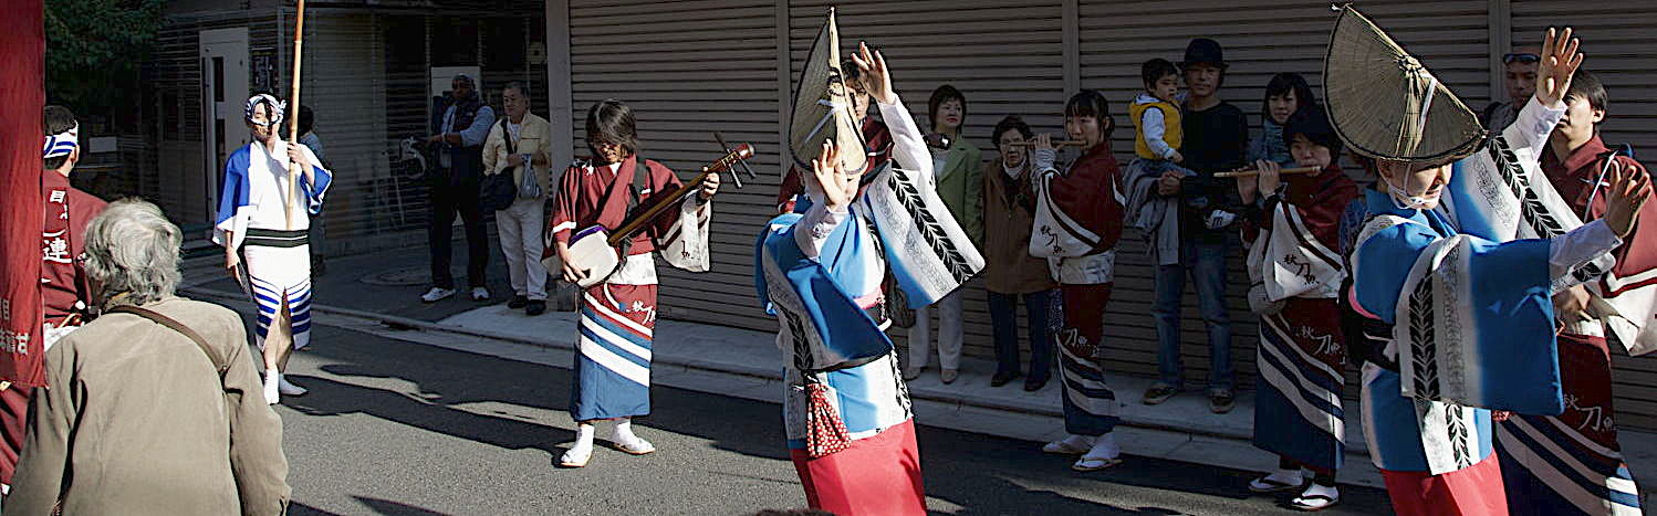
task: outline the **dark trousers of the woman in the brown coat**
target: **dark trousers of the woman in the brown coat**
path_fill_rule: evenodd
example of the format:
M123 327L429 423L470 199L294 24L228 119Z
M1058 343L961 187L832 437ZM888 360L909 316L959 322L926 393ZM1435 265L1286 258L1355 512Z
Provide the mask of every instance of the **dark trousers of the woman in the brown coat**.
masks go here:
M1057 318L1057 289L1029 294L989 293L989 324L996 334L996 372L1019 370L1019 316L1017 301L1024 298L1024 314L1029 318L1031 382L1044 382L1052 374L1052 334Z

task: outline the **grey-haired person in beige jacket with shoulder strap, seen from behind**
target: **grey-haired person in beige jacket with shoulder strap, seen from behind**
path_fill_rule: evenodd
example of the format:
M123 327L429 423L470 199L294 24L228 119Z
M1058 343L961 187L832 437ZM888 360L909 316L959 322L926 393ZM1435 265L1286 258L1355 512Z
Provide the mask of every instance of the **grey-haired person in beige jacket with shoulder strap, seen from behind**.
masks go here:
M242 318L174 296L181 233L143 200L86 228L103 316L46 351L7 513L282 514L282 420Z

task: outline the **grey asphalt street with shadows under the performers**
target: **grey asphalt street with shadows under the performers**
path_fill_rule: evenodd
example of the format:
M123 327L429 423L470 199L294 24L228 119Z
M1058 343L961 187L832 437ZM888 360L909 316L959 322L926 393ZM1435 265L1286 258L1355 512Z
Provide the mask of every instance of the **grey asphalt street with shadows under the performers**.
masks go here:
M239 306L240 308L240 306ZM573 438L570 370L328 326L295 356L285 428L293 514L746 514L800 508L775 404L655 387L640 435L661 450L600 448L553 466ZM552 351L547 351L552 352ZM1289 514L1251 496L1254 473L1130 456L1075 473L1041 443L920 422L928 506L940 514ZM600 440L608 433L600 427ZM1127 450L1132 453L1132 450ZM1342 486L1329 514L1389 513Z

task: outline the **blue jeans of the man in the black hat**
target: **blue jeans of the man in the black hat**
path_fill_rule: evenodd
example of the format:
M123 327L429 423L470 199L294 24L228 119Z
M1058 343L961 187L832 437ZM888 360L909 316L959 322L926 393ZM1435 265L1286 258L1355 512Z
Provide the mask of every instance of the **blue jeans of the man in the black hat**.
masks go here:
M1231 316L1226 313L1226 243L1180 243L1180 263L1157 266L1157 370L1163 382L1185 385L1180 362L1180 296L1185 278L1196 283L1196 301L1208 327L1208 389L1231 389Z

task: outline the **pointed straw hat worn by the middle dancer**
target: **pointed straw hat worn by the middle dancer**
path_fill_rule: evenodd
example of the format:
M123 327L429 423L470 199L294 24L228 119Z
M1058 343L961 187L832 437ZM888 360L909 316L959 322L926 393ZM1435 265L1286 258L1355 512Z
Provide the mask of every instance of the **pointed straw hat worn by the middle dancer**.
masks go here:
M843 170L862 172L868 155L863 150L863 134L852 116L852 88L840 69L840 30L835 26L835 10L828 8L812 51L805 55L805 69L794 84L794 116L789 119L789 149L800 169L810 169L810 160L822 154L824 142L833 139Z

